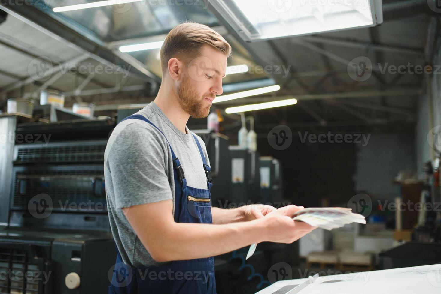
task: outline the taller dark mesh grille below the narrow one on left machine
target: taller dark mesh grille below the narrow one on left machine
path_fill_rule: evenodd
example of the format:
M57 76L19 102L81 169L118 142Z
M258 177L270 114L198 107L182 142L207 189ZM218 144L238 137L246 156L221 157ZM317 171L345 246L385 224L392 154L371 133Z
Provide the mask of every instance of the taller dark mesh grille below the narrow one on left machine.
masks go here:
M66 209L71 203L93 203L89 211L94 211L93 207L96 204L101 203L104 206L106 202L103 179L102 169L17 171L14 183L14 207L27 209L32 197L47 194L52 199L55 210ZM102 209L102 206L98 208Z

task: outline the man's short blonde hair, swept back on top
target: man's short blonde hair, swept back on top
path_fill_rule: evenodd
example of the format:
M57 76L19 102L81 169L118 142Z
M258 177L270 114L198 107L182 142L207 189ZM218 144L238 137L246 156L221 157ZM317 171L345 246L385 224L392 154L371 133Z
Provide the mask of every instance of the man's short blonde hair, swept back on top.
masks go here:
M168 71L168 60L173 57L181 57L184 60L194 58L203 45L210 45L227 55L227 58L231 55L230 44L209 26L196 22L183 22L175 26L168 32L161 47L162 77Z

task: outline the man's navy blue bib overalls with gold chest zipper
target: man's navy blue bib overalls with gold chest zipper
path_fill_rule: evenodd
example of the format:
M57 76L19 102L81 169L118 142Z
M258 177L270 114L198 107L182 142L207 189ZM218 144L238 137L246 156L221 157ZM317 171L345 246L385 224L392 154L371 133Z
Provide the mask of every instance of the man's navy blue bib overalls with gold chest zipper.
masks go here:
M146 121L164 133L151 121L142 115L134 114L126 119ZM164 135L165 136L165 135ZM207 189L187 186L183 168L173 152L173 176L175 180L175 221L179 223L212 224L211 195L213 186L211 170L206 164L204 154L198 139L194 136L202 157L207 177ZM166 138L167 139L167 138ZM168 140L167 140L168 142ZM179 244L176 244L179 246ZM194 250L198 250L195 248ZM193 260L172 261L171 264L160 267L134 268L124 264L117 251L115 267L109 271L112 280L109 294L216 294L214 278L214 257Z

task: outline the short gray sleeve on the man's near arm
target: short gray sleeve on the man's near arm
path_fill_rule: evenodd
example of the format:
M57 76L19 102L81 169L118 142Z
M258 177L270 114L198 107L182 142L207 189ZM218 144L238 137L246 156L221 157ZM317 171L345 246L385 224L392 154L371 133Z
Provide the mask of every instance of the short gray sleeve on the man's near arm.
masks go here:
M165 138L136 122L117 128L107 154L116 208L172 199Z

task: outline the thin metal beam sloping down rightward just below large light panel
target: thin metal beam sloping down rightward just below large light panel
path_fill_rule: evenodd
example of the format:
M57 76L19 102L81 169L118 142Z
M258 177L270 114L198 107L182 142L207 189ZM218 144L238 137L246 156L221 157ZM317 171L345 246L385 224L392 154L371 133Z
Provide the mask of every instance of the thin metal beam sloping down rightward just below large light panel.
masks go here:
M417 55L420 57L424 56L424 52L413 49L413 48L406 48L406 47L396 47L396 46L390 46L390 45L382 45L382 44L372 44L369 42L361 42L357 40L344 40L344 39L338 39L338 38L330 38L330 37L323 37L323 36L303 36L301 37L303 40L311 41L311 42L321 42L325 44L331 44L331 45L338 45L345 48L352 47L352 48L359 48L359 49L372 49L375 51L384 51L384 52L391 52L391 53L400 53L400 54L406 54L406 55Z

